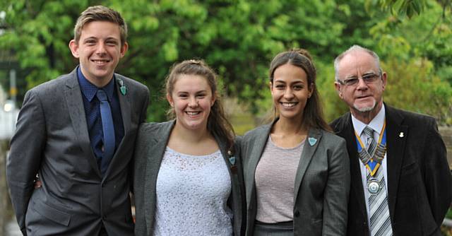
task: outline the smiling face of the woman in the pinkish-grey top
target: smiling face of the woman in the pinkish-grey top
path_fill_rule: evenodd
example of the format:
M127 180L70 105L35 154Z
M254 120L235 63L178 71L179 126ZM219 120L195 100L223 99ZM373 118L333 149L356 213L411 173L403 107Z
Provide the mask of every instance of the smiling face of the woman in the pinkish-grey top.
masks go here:
M302 119L312 94L312 86L309 86L303 69L292 64L279 66L273 74L270 90L280 119Z

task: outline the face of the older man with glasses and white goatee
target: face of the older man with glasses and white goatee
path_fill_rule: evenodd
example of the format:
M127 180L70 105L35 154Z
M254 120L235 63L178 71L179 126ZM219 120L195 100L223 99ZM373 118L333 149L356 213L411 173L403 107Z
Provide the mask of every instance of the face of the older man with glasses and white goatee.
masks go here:
M335 82L339 97L350 107L355 117L360 114L376 114L383 105L383 91L386 86L386 73L376 81L365 83L362 76L379 74L376 60L369 53L357 50L346 54L338 64L338 79L359 78L355 85Z

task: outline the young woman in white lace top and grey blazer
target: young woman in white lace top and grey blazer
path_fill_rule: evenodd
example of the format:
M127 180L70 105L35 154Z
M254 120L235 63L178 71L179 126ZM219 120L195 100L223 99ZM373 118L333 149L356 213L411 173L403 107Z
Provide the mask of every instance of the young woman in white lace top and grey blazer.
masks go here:
M242 235L242 162L216 77L202 60L174 65L165 86L172 120L141 125L135 235Z

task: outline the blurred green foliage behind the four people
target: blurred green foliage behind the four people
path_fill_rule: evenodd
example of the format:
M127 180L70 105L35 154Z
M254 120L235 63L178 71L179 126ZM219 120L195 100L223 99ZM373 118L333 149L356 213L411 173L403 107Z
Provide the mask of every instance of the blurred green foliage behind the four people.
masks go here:
M359 44L381 57L389 105L452 124L450 0L4 0L0 52L16 55L27 88L76 66L67 47L73 25L96 4L116 9L129 25L129 52L117 72L148 85L152 121L165 119L169 67L191 58L217 70L224 95L263 116L272 107L268 64L292 47L313 54L331 121L347 111L333 86L333 59Z

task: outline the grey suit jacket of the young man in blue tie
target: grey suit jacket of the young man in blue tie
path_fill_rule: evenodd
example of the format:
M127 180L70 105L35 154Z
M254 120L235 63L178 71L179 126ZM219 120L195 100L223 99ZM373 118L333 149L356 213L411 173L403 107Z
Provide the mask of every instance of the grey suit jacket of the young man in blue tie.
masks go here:
M138 124L145 119L149 90L115 74L124 138L102 177L90 146L76 70L25 94L6 174L23 235L133 235L129 190ZM116 81L115 81L116 82ZM42 187L34 188L39 173Z

